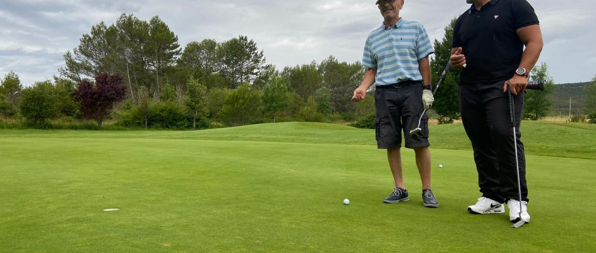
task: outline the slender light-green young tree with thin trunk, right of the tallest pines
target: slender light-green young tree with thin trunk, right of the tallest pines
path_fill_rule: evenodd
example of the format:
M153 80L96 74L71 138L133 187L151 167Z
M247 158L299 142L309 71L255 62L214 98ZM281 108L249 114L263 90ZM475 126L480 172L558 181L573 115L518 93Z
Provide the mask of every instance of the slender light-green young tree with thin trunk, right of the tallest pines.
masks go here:
M195 79L189 79L187 82L187 92L184 98L184 105L193 115L193 130L197 129L197 117L207 116L207 88Z

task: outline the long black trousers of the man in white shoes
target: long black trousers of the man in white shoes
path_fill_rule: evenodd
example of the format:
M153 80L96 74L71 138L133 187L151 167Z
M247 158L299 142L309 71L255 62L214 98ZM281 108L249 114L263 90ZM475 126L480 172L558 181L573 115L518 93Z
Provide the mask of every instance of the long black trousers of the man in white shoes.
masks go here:
M507 93L503 93L504 83L505 81L494 84L462 84L458 88L461 119L474 149L480 192L482 196L498 202L519 199L513 126L510 120L509 98ZM520 140L523 102L523 93L514 96L522 200L528 201L526 156Z

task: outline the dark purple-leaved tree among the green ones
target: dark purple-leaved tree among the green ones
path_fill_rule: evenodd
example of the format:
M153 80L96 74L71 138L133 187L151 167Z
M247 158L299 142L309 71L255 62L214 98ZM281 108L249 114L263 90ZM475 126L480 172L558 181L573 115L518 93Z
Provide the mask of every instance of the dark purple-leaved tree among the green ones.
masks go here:
M79 102L83 116L101 126L114 104L126 98L126 88L122 85L122 77L104 73L95 77L95 85L88 80L80 82L71 96Z

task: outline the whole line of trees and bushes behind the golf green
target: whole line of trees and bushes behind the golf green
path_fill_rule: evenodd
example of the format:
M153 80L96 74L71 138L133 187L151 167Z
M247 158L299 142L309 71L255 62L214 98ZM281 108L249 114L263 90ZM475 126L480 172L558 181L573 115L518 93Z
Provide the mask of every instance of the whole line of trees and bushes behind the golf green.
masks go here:
M455 19L445 27L445 36L434 40L434 82L449 61L454 24ZM242 35L224 42L194 41L182 49L178 36L157 16L146 21L122 14L110 26L102 21L63 58L65 66L54 80L29 88L8 73L0 86L0 115L23 118L32 126L48 126L57 118L86 118L101 126L111 118L123 127L169 129L277 121L374 123L373 95L359 104L350 100L364 77L359 62L329 56L278 70ZM436 93L433 110L439 123L460 118L460 73L450 71ZM550 109L547 94L554 80L544 63L532 79L547 83L547 92L526 95L524 117L536 120ZM591 87L586 93L596 89ZM596 111L595 100L590 101L586 106Z

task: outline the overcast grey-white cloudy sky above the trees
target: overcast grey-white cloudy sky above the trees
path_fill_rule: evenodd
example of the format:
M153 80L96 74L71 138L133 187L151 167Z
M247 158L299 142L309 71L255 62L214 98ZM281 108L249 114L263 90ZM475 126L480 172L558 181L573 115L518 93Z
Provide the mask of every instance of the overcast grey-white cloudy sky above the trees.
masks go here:
M181 46L193 40L219 42L238 35L253 39L267 63L320 62L329 55L360 61L368 33L382 18L374 0L0 0L0 77L14 71L29 86L50 79L62 55L79 44L91 26L112 24L122 13L149 20L159 15ZM529 0L541 21L545 46L539 62L556 83L587 82L596 74L594 0L570 4ZM401 16L426 26L431 39L443 36L451 18L469 8L464 0L406 0Z

